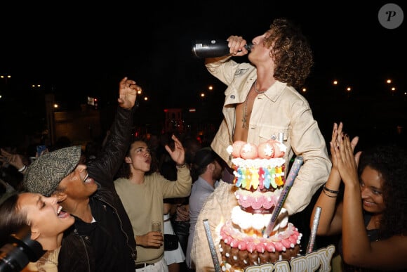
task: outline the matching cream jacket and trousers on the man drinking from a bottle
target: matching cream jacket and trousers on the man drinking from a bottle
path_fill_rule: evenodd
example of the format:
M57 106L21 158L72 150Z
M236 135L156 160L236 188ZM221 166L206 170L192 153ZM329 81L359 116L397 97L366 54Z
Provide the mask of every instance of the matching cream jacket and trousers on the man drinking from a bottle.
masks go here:
M211 147L230 166L232 158L227 153L227 147L232 145L235 105L246 100L257 78L256 69L250 63L236 63L229 58L218 58L218 62L207 64L206 67L213 76L227 85L222 110L224 119ZM316 190L326 182L331 171L331 160L309 103L292 86L283 82L274 83L265 93L255 98L247 141L258 145L269 138L279 139L279 133L283 133L283 143L287 146L284 157L285 175L288 174L287 163L293 155L304 159L283 206L288 214L295 214L309 205ZM235 188L233 184L221 181L201 209L191 251L196 272L214 271L211 250L206 240L207 233L202 223L204 220L208 220L220 259L220 226L230 218L232 208L237 205L233 193Z

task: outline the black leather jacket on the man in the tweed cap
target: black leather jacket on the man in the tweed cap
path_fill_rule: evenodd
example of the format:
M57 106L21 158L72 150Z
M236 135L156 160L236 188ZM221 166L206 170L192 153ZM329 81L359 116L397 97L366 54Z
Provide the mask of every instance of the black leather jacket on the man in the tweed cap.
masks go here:
M135 250L135 237L131 222L128 219L119 195L114 189L114 174L119 170L121 163L124 161L128 145L131 141L131 127L133 127L133 110L126 110L118 107L116 117L110 128L110 135L105 144L102 154L95 160L87 164L88 174L98 183L98 190L90 197L92 214L102 216L107 210L105 206L113 209L114 214L121 226L121 231L126 237L128 251L133 257L133 262L137 257ZM110 210L111 212L112 210ZM77 219L76 220L80 220ZM75 221L76 224L76 221ZM112 222L114 224L114 222ZM114 233L112 233L112 236ZM105 250L109 250L108 248ZM95 271L95 257L90 256L90 242L86 235L78 235L75 225L69 228L62 239L62 248L58 257L58 271L86 272ZM129 267L126 264L124 267ZM135 268L131 267L129 271L134 272Z

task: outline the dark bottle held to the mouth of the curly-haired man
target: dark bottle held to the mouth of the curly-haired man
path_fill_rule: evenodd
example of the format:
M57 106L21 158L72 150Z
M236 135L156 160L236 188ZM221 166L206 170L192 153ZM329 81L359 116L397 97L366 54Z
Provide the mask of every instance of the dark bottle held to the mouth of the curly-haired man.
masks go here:
M228 41L224 39L201 39L196 40L192 47L192 52L198 58L216 58L229 55ZM248 51L253 44L248 43L244 46Z

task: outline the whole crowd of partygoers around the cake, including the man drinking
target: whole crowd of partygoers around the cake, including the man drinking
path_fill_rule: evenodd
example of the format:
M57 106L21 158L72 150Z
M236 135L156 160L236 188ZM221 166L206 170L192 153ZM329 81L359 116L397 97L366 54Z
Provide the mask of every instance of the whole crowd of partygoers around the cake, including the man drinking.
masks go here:
M124 77L102 143L60 141L34 157L1 148L0 245L29 228L45 253L25 271L213 271L199 222L208 219L216 235L216 226L231 216L234 174L227 147L281 135L285 168L295 156L304 159L284 203L291 216L302 214L307 227L300 231L312 227L321 207L317 234L338 235L338 271L406 270L406 151L388 144L355 153L359 138L351 140L341 122L334 122L327 148L297 91L313 56L293 22L275 19L251 40L252 48L241 36L227 41L227 56L205 60L208 72L227 86L224 118L208 145L186 134L135 138L141 87ZM250 63L236 61L246 55ZM177 236L175 248L166 250L166 235Z

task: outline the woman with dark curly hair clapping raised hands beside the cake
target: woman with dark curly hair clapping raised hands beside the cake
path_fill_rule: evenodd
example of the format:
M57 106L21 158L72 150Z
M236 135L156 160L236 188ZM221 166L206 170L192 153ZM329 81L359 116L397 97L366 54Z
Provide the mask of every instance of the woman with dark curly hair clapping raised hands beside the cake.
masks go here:
M312 213L321 207L316 235L342 234L342 271L406 271L406 150L385 144L354 155L359 138L350 141L342 127L334 124L333 167Z

